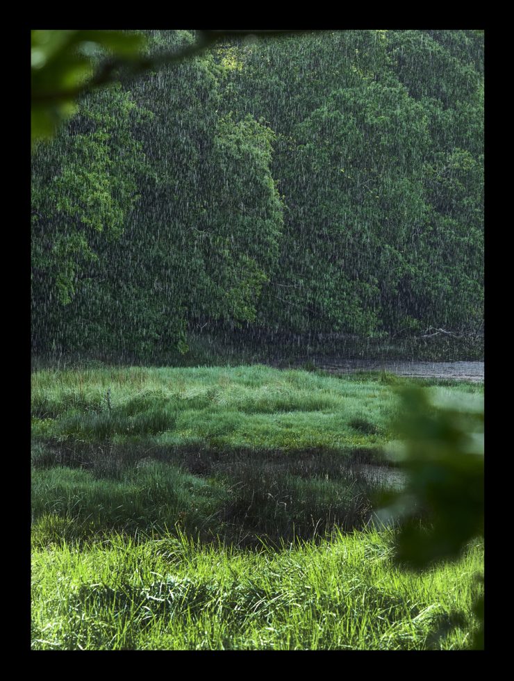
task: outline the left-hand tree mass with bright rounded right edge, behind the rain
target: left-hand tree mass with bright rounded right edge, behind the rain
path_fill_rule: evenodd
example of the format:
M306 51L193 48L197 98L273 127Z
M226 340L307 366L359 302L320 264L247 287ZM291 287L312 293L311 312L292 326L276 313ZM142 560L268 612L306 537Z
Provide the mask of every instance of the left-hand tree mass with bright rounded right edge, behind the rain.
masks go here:
M151 49L173 50L192 35L149 39ZM58 347L185 351L187 321L255 318L281 231L274 136L251 117L217 115L217 77L207 56L151 74L132 94L94 95L83 106L87 132L77 134L83 125L74 120L60 147L56 140L41 151L35 290L48 293L53 277L58 300L40 320L36 347L51 329ZM66 160L58 177L40 171L51 158Z

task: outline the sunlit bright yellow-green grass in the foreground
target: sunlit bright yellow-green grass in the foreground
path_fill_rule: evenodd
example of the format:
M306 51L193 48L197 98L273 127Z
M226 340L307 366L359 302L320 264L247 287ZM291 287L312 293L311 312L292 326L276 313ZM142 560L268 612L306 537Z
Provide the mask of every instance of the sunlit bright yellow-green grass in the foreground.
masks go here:
M279 552L113 535L33 554L38 650L466 648L483 565L476 543L421 575L395 568L390 533ZM461 624L451 629L453 614ZM445 634L445 627L447 633ZM449 628L448 628L449 627ZM449 631L449 633L448 633Z

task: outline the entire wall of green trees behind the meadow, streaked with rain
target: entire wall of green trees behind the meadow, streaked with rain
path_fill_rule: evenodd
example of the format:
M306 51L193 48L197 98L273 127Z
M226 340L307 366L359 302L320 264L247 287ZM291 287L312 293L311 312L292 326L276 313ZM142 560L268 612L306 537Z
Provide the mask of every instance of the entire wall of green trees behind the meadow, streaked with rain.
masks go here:
M234 40L94 92L33 154L32 220L35 354L476 331L483 35Z

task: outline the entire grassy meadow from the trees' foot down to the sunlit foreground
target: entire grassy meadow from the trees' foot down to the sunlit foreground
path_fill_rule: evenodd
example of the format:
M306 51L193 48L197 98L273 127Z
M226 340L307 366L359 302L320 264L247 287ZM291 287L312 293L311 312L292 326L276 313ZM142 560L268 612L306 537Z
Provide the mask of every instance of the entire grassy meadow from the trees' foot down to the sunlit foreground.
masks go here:
M376 516L406 382L266 366L33 371L33 648L469 646L483 545L411 573Z

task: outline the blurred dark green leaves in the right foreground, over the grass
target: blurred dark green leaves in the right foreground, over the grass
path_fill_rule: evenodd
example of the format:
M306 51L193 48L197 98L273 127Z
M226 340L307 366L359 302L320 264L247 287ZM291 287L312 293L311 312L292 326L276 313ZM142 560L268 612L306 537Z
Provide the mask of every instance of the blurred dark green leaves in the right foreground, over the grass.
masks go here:
M381 515L400 517L396 560L414 569L457 559L467 543L483 536L483 398L410 388L393 454L408 475L406 488L383 495ZM424 511L429 520L420 523ZM479 577L482 580L482 577ZM483 648L483 598L474 612L481 622L474 647Z

